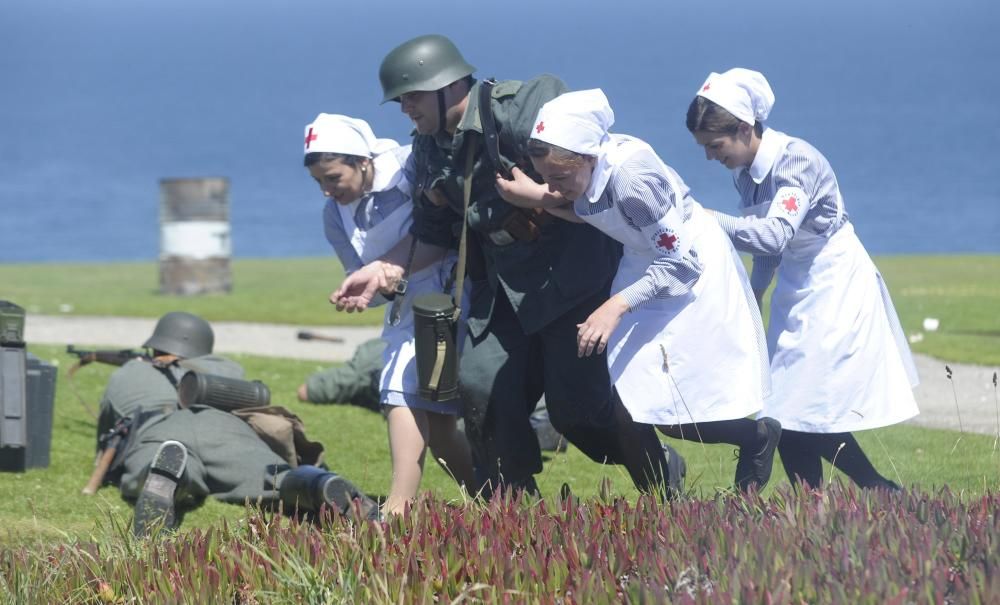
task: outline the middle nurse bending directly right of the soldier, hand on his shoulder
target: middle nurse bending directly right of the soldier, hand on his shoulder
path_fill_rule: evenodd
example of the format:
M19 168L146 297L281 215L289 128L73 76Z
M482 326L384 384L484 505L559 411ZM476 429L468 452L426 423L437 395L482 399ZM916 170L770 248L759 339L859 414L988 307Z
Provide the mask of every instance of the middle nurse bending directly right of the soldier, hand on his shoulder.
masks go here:
M548 188L573 200L572 210L550 212L624 245L614 294L578 326L578 354L607 349L611 380L636 422L739 446L736 486L760 489L781 427L746 418L768 389L746 273L680 176L643 141L610 134L613 121L600 90L567 93L542 107L528 143ZM498 187L534 184L525 178Z

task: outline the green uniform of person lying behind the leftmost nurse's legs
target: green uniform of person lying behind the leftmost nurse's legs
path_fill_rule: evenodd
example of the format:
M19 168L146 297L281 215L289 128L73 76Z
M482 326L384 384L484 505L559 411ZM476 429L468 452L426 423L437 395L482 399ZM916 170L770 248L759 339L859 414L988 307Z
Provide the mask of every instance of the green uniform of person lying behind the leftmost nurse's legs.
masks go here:
M344 365L311 374L306 379L306 396L313 403L349 403L370 410L380 409L379 379L382 375L381 338L367 340Z

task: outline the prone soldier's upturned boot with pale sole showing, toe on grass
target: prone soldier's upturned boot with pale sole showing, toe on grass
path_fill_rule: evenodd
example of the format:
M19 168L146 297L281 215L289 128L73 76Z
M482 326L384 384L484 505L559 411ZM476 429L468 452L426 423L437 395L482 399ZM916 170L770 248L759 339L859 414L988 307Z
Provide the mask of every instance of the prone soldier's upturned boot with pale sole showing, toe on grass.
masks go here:
M174 492L187 465L187 448L179 441L164 441L149 465L146 482L135 503L132 534L148 536L155 530L176 527Z

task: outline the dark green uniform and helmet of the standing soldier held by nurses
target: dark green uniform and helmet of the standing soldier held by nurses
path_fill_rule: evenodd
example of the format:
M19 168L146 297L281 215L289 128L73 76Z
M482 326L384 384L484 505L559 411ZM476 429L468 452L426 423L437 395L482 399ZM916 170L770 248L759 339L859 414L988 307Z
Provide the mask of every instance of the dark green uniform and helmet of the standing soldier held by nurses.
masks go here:
M385 100L438 90L443 123L439 89L471 70L447 38L422 36L390 52L380 78ZM467 213L471 296L460 382L466 433L486 493L500 481L537 489L533 475L542 470L542 460L529 416L543 393L553 426L590 458L625 464L642 488L660 484L666 463L653 429L632 422L611 391L601 356L576 353L576 325L607 300L621 249L584 224L552 220L533 241L505 227L522 211L496 191L496 170L482 143L480 86L472 86L453 136L440 130L414 137L407 168L418 191L436 190L451 209L442 212L428 196L416 196L411 232L420 241L454 246L463 216L466 146L473 140L478 145ZM491 108L507 167L533 175L525 146L534 117L564 91L552 76L496 84Z

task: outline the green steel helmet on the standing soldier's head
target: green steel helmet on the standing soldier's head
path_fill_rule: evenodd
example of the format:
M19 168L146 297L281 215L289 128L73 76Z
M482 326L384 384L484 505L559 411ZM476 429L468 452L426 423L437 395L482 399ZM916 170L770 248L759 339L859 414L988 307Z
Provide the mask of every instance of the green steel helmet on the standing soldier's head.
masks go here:
M465 62L448 38L438 34L418 36L392 49L382 59L378 70L382 102L399 101L408 92L444 88L474 71L476 68Z

